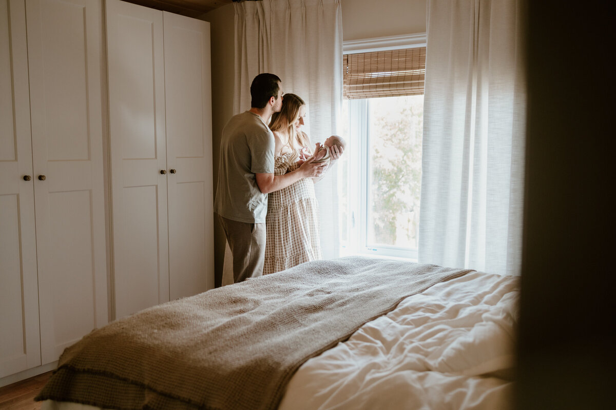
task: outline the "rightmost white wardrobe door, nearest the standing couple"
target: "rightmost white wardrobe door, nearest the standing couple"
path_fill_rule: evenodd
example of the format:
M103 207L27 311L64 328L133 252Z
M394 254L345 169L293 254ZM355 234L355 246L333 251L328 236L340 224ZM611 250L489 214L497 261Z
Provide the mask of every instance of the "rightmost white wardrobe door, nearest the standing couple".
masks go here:
M171 299L214 287L209 23L168 12L164 72Z

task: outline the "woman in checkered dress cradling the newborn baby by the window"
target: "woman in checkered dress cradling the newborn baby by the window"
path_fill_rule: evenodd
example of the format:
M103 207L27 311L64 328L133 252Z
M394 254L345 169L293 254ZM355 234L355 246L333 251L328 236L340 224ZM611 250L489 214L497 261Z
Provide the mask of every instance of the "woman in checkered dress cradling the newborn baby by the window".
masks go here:
M274 175L293 171L301 161L312 155L308 148L310 140L300 130L305 116L304 100L295 94L285 94L282 109L272 115L269 124L276 140ZM332 149L329 166L341 154L342 149ZM321 259L318 202L314 193L314 183L317 181L300 179L291 186L268 194L264 275Z

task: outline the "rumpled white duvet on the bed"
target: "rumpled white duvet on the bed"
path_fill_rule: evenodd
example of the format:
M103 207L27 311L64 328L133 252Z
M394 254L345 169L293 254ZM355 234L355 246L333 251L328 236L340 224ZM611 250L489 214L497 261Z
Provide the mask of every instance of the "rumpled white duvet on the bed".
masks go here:
M471 272L405 299L304 363L279 410L511 408L518 289L517 277Z

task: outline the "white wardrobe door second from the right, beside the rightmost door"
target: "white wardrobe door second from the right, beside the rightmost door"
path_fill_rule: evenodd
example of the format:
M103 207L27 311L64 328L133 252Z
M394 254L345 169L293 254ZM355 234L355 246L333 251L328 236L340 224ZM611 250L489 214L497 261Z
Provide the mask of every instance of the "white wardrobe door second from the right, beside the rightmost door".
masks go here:
M169 300L163 13L108 0L107 58L120 318Z

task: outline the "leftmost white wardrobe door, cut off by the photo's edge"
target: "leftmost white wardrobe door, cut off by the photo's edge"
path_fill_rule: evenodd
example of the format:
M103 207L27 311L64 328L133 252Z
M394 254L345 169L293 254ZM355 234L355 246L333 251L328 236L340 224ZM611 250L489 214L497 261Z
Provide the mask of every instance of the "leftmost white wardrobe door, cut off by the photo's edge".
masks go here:
M0 377L41 364L27 53L24 1L0 0Z

